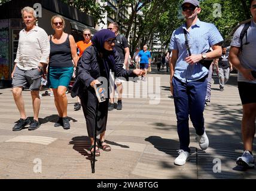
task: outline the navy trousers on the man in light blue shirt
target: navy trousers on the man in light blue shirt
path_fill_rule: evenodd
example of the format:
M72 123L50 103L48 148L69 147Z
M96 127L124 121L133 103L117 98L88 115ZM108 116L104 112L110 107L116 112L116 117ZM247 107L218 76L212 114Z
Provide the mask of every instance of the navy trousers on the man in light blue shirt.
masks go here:
M192 82L181 82L174 76L172 79L180 149L187 152L190 152L188 116L196 129L196 134L203 135L205 132L203 110L205 109L207 76Z

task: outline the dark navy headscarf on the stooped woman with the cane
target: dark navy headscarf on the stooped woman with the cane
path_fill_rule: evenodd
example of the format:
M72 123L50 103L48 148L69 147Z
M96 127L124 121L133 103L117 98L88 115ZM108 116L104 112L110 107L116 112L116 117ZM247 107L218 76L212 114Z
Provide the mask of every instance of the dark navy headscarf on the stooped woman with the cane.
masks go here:
M109 79L110 69L115 69L115 58L113 51L105 50L104 43L108 39L115 38L115 33L108 29L102 29L95 33L92 38L92 44L99 53L102 53L102 62L105 67L106 75Z

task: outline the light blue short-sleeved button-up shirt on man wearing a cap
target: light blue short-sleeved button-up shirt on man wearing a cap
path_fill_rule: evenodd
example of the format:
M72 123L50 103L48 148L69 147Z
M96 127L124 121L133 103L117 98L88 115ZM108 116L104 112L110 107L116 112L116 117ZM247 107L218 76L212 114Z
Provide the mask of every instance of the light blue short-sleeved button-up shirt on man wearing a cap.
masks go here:
M176 61L174 76L182 82L196 81L208 74L208 69L199 63L188 64L185 58L188 51L185 45L183 29L187 30L185 24L172 33L169 48L178 50L178 60ZM188 44L190 44L191 54L206 53L212 45L223 41L223 38L212 23L205 23L197 19L196 24L191 26L188 34Z

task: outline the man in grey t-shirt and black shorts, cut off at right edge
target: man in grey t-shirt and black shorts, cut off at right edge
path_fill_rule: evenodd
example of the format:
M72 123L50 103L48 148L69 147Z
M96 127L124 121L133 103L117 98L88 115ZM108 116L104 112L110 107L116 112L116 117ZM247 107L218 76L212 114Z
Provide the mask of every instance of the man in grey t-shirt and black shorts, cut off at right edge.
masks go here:
M242 24L234 33L229 54L230 62L238 70L238 89L243 104L242 138L245 152L236 160L236 164L243 167L254 167L252 144L256 116L256 95L253 91L256 89L256 76L253 75L256 72L256 0L250 0L250 10L253 19L247 34L241 41L240 33L245 26Z

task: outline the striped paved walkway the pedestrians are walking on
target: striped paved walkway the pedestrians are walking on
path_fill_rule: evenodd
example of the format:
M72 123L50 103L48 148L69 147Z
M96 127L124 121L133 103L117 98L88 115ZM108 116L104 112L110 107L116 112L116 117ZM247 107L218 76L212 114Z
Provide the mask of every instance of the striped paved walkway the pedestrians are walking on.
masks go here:
M179 141L169 75L153 69L148 77L154 77L153 81L136 83L141 83L140 96L135 97L136 88L129 86L134 91L124 94L128 98L123 99L123 110L109 112L106 141L112 150L100 150L95 174L91 173L83 112L73 110L75 98L68 94L70 130L53 127L57 121L54 98L45 96L39 113L41 127L13 132L19 112L11 89L0 90L0 178L256 178L255 169L244 171L235 163L243 152L242 105L235 74L223 92L214 76L211 104L205 109L209 148L200 150L190 123L191 159L182 167L173 165ZM32 116L29 91L23 96L26 112Z

